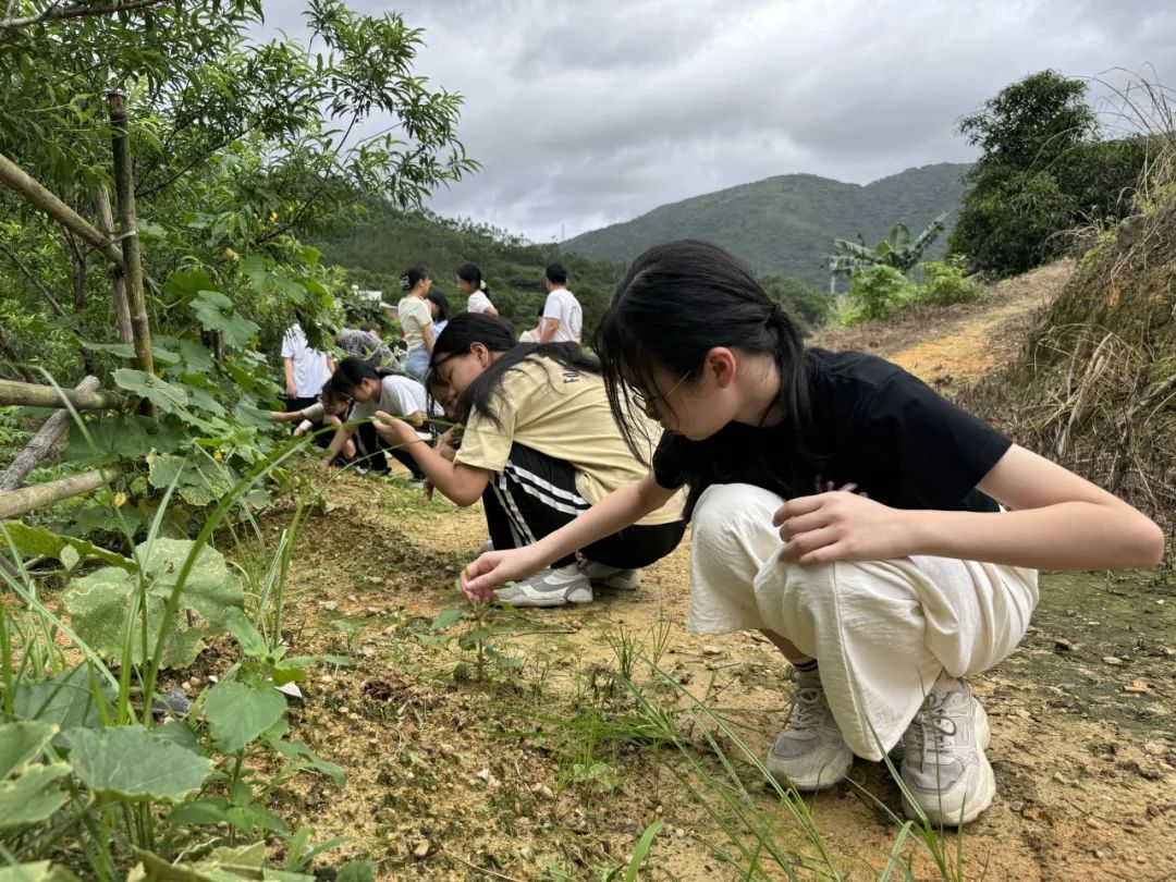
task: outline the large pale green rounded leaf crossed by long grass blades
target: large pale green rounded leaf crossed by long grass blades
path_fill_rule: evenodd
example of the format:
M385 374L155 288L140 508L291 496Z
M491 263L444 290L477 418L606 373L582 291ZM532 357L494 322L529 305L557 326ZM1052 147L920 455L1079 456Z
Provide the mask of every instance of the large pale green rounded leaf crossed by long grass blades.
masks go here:
M191 540L156 539L149 548L147 543L138 548L148 587L148 649L154 649L159 639L167 600L192 547ZM106 567L72 581L64 596L79 636L103 657L121 659L127 617L135 609L139 596L136 576ZM228 568L219 552L207 546L201 548L181 590L179 615L163 644L162 664L191 664L203 647L203 640L223 633L228 610L240 608L242 602L240 577ZM136 612L131 623L132 659L135 663L145 661L142 627L142 614Z

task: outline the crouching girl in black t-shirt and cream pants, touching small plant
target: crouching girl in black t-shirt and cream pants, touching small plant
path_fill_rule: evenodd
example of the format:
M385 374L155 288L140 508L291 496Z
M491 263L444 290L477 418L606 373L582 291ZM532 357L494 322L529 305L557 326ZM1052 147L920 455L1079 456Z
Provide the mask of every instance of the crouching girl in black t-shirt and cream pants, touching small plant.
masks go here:
M797 789L900 741L904 808L976 817L995 794L964 677L1005 657L1036 568L1154 567L1145 516L1014 445L902 369L806 350L743 263L679 241L646 252L595 341L619 422L666 434L641 482L462 575L472 599L634 522L689 487L688 627L757 628L796 666L767 768ZM907 803L909 796L914 804Z

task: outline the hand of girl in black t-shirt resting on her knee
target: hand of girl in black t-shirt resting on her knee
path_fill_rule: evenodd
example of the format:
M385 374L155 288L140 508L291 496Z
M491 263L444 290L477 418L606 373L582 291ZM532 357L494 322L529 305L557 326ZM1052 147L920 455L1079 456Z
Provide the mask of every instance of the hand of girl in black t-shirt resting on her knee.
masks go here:
M831 561L884 561L913 553L910 513L855 493L797 496L771 519L784 549L802 567Z

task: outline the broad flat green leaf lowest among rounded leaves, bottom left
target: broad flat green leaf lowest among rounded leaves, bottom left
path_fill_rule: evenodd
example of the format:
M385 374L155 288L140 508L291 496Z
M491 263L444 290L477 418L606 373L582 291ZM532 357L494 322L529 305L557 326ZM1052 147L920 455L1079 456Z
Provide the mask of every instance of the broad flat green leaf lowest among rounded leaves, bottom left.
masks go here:
M213 764L141 726L68 735L69 761L87 787L115 800L181 802L200 790Z

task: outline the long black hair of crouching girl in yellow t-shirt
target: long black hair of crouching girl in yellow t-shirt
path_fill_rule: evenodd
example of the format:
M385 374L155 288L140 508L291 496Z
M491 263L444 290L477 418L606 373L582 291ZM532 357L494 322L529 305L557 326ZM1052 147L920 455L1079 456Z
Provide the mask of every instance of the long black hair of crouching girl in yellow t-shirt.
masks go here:
M463 313L453 319L433 343L429 370L436 370L449 359L468 355L474 343L481 343L497 358L472 382L459 399L459 409L469 414L477 408L493 425L501 427L499 393L507 370L524 362L550 359L564 370L583 374L601 373L600 362L580 348L580 343L520 343L499 319L481 313Z

